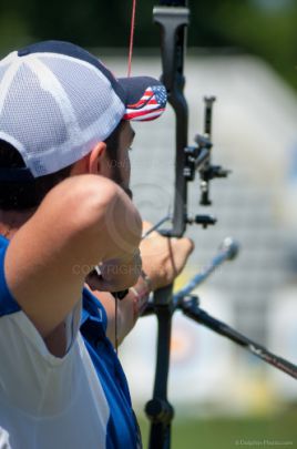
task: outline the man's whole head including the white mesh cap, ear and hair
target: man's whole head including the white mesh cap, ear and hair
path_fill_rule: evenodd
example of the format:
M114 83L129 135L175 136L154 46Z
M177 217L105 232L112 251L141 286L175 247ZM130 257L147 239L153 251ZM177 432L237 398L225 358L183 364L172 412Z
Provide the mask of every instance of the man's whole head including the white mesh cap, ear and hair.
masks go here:
M12 185L8 196L16 196L13 184L19 191L35 184L35 196L42 197L44 183L51 188L70 174L95 170L127 188L125 154L133 134L127 121L155 119L165 103L158 81L117 80L68 42L40 42L10 53L0 62L0 190ZM9 204L0 198L0 207Z

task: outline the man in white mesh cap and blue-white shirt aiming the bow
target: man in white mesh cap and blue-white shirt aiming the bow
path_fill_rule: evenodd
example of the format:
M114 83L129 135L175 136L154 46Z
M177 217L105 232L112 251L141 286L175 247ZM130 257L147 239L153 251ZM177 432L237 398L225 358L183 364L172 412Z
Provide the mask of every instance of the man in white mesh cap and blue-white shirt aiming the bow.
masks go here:
M142 272L130 120L157 118L166 92L57 41L9 54L0 85L0 447L139 448L112 341L193 249L152 234Z

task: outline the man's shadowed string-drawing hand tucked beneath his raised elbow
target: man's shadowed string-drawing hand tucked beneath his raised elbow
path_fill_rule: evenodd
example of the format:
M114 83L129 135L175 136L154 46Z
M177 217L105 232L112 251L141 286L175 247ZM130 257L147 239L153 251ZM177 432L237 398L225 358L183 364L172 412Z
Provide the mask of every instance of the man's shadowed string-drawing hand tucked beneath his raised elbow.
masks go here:
M140 251L125 258L104 261L99 265L99 273L92 271L85 282L92 290L120 292L134 285L141 274L142 259Z

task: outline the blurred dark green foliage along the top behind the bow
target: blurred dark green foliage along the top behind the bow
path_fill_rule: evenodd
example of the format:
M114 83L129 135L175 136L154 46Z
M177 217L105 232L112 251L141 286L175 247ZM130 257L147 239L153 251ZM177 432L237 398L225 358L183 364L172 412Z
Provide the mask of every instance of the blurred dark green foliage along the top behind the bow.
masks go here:
M40 39L88 48L127 48L132 1L12 0L0 6L0 51ZM137 2L135 48L155 48L155 0ZM191 47L246 51L266 59L297 89L296 0L190 0ZM155 32L154 32L155 31Z

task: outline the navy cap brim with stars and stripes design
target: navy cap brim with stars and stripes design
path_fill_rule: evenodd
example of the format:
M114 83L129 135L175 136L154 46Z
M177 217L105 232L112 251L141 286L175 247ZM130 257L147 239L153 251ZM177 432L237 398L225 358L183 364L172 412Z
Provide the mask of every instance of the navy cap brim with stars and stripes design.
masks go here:
M151 76L117 79L124 91L125 114L123 120L148 121L157 119L166 108L165 86Z

